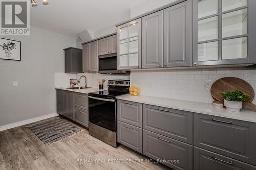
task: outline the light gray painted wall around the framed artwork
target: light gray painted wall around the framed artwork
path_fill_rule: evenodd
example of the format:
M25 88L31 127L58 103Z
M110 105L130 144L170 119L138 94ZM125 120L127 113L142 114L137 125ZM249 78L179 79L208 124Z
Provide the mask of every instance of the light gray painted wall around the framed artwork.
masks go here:
M22 61L0 60L0 126L56 113L54 73L64 72L63 48L76 39L34 27L30 34L4 37L21 41Z

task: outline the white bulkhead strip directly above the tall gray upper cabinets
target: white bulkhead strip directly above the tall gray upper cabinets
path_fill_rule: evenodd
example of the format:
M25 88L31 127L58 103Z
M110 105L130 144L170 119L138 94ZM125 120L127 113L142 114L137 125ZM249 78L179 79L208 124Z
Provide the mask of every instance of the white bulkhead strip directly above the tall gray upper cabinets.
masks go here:
M177 0L148 0L145 3L142 3L138 6L131 8L131 18L142 15L144 13L150 12L167 4L173 3Z

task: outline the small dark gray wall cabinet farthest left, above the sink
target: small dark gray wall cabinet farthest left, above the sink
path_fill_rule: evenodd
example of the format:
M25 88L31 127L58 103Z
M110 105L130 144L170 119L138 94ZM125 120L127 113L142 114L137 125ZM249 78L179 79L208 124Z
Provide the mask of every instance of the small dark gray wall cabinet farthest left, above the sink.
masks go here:
M65 72L82 72L82 50L79 48L65 48Z

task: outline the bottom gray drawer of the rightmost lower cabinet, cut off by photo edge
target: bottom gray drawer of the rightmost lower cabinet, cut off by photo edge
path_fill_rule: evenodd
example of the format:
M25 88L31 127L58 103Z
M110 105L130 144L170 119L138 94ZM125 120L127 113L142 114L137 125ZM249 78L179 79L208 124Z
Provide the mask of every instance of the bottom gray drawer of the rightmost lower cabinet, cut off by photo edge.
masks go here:
M256 170L255 166L194 147L194 169Z

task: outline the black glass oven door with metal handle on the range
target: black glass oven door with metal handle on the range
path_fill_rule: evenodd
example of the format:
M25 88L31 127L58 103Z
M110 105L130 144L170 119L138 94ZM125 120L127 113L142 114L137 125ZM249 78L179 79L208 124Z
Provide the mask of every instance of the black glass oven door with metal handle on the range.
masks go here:
M88 98L89 122L116 132L116 100L96 98L94 96L88 96Z

